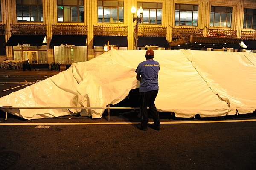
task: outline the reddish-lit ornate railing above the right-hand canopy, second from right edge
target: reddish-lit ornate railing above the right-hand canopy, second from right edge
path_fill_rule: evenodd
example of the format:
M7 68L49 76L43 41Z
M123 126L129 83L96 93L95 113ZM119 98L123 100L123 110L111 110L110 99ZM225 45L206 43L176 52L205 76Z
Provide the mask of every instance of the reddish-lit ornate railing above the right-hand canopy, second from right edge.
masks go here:
M208 29L207 37L215 38L236 38L236 30L227 30L227 29Z

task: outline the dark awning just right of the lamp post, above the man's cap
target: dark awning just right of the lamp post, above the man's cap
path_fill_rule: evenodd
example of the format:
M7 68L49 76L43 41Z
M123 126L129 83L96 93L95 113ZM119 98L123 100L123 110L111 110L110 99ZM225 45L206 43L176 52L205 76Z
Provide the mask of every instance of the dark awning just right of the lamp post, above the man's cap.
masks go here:
M138 47L158 46L168 48L166 37L138 37Z

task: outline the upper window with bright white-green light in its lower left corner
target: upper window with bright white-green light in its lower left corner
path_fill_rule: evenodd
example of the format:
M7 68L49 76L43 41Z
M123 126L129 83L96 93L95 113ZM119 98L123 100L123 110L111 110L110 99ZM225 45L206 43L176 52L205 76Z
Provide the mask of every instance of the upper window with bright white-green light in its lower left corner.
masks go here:
M58 0L58 22L84 22L84 0Z

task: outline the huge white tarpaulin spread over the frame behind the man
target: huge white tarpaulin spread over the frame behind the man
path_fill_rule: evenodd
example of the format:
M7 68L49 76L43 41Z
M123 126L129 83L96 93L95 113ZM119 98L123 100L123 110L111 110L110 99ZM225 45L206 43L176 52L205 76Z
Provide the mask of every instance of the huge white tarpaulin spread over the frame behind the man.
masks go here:
M160 63L159 111L177 117L224 116L256 109L256 54L191 50L155 50ZM111 50L90 61L75 63L58 75L0 98L0 106L105 107L122 101L137 88L138 63L145 51ZM12 109L25 119L69 114L100 118L104 110Z

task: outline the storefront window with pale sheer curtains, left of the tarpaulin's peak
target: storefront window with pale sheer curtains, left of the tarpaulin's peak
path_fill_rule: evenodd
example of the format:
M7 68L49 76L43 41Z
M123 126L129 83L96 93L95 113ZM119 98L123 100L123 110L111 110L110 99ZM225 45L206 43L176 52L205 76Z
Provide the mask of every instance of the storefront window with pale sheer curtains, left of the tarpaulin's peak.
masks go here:
M87 46L54 46L54 61L60 64L87 61Z

